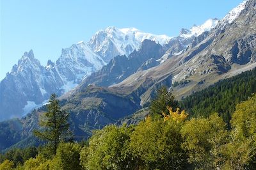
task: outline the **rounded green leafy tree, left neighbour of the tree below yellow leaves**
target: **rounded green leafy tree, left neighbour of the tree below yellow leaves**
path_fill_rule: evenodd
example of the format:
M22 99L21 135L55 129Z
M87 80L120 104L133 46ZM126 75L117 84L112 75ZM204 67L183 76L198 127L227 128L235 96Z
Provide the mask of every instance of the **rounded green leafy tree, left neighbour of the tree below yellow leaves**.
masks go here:
M83 148L81 164L86 169L133 169L129 151L133 127L109 125L95 131L88 148ZM87 156L86 156L87 155Z

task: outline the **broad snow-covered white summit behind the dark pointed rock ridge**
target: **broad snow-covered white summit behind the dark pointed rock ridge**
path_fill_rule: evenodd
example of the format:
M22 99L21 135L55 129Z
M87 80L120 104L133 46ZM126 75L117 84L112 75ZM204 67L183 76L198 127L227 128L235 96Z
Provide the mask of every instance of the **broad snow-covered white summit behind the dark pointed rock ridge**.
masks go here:
M114 56L129 56L131 52L138 50L141 42L146 39L163 45L168 43L171 37L144 33L134 27L123 29L107 27L93 35L88 44L96 54L108 63Z

